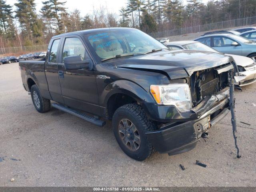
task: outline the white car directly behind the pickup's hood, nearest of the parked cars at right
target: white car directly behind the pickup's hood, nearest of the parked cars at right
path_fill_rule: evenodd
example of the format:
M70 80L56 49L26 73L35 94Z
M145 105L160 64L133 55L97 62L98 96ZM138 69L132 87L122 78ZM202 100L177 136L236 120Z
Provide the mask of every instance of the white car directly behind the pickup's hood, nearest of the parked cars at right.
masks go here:
M171 50L186 49L186 50L197 50L197 51L207 51L207 52L218 52L214 48L209 47L198 41L174 41L166 44ZM240 86L245 86L256 82L256 63L254 60L248 57L240 55L232 55L234 62L238 66L239 75L236 77L238 81L237 84Z

